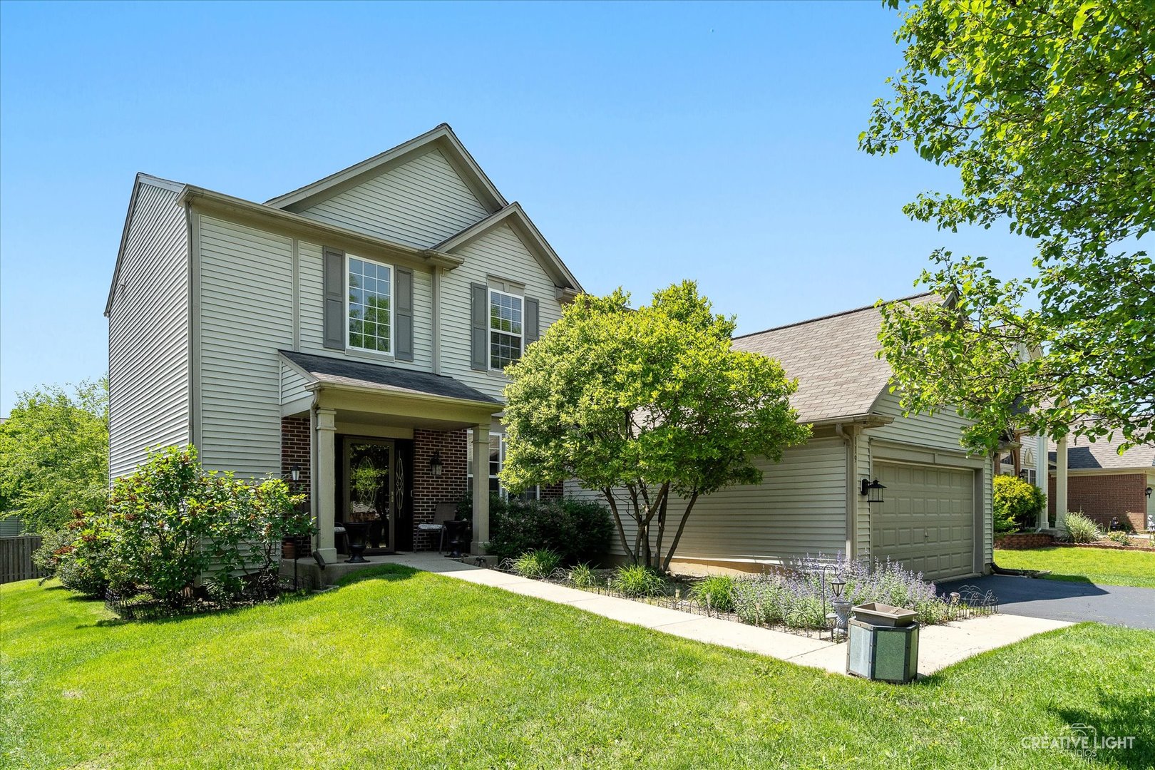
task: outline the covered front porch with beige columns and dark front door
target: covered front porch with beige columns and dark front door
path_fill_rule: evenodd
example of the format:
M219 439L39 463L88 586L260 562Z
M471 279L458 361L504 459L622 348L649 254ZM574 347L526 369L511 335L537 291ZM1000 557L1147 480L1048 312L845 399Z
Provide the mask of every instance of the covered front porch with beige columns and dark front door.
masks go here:
M364 539L370 560L437 548L437 536L419 526L433 523L439 510L441 517L449 514L467 494L474 501L469 550L482 552L489 540L490 429L500 402L434 374L290 351L281 356L288 380L282 472L296 476L295 491L307 495L316 522L312 543L300 545L326 565L322 570L308 560L316 577L323 576L319 585L365 567L344 563L350 540ZM304 563L298 559L298 573Z

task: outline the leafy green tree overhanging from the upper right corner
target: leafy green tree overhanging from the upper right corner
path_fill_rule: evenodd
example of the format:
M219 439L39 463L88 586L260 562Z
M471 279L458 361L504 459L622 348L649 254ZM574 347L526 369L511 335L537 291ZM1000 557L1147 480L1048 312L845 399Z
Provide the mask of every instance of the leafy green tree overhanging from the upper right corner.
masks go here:
M956 404L975 448L1011 427L1152 438L1155 3L925 0L895 37L904 66L859 144L912 144L961 179L906 214L1037 241L1026 279L938 251L921 281L949 301L882 307L904 409Z

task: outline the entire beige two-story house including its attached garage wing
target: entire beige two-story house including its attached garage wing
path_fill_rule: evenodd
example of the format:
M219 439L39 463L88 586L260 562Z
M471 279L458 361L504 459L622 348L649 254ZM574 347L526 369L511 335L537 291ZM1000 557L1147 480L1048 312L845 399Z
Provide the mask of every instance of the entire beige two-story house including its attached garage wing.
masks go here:
M209 469L295 479L328 561L342 522L382 552L435 545L419 525L469 489L478 548L502 367L580 291L448 126L266 203L140 175L106 308L111 472L192 442ZM936 578L986 568L991 458L962 451L949 410L902 413L880 322L871 306L735 341L798 377L814 436L700 501L681 566L843 551Z

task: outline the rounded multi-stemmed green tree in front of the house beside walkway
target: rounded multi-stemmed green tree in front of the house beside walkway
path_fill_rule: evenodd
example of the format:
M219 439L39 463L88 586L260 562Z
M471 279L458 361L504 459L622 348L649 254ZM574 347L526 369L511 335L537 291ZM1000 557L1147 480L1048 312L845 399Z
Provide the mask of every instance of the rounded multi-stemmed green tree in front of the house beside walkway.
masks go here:
M506 369L501 484L578 479L605 498L625 553L665 571L698 499L758 484L754 458L780 461L810 426L789 404L797 383L777 361L732 350L733 319L693 282L636 311L628 299L579 297Z

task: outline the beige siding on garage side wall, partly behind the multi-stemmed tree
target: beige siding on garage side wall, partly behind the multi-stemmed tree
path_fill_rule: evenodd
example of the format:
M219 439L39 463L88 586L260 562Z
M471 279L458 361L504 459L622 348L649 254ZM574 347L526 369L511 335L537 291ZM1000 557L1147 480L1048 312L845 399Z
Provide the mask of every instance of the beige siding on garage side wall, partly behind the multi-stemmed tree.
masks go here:
M698 500L677 559L776 563L845 550L847 453L841 439L814 439L788 449L781 463L759 464L761 484L726 487ZM566 485L566 493L605 503L604 496L575 483ZM626 498L619 496L624 506ZM684 509L681 502L671 503L664 548ZM623 523L633 547L635 528L628 517ZM613 553L623 554L617 538Z

